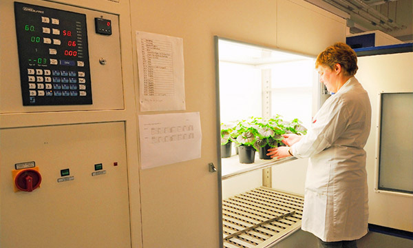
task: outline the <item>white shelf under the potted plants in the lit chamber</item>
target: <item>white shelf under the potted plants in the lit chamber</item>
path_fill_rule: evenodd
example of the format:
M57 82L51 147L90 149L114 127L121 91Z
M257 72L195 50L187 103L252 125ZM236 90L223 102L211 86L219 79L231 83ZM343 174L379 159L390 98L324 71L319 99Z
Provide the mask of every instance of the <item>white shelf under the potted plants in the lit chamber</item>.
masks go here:
M265 169L273 165L279 165L288 161L293 161L297 158L288 157L280 159L260 159L258 152L255 152L255 162L251 164L240 163L238 155L233 155L229 158L221 158L221 175L222 180L231 178L233 176L239 176L248 172L252 172L256 169Z

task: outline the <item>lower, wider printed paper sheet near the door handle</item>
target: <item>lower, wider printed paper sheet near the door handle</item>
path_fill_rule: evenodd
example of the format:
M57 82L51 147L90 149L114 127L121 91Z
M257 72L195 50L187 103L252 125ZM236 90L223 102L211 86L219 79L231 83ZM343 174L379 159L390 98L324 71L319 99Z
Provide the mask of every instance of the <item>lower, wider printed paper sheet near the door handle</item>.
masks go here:
M201 157L200 113L138 116L142 169Z

